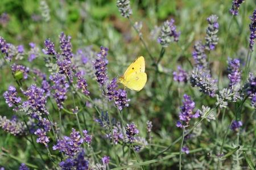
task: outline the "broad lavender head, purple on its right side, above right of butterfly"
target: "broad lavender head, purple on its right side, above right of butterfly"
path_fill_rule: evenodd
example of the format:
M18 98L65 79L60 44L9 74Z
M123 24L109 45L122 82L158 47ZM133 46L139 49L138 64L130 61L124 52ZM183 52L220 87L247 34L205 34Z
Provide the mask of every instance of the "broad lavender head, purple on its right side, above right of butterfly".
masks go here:
M172 41L179 41L180 32L177 32L176 25L174 25L174 22L174 19L171 19L170 21L167 20L161 27L158 42L163 47L167 47Z

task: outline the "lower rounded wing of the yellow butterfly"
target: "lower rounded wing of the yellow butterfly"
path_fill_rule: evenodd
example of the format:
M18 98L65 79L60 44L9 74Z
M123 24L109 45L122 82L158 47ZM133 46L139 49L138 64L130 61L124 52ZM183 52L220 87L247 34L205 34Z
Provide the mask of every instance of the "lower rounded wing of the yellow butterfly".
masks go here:
M145 86L147 82L147 74L146 73L131 73L125 81L123 85L131 90L140 91Z

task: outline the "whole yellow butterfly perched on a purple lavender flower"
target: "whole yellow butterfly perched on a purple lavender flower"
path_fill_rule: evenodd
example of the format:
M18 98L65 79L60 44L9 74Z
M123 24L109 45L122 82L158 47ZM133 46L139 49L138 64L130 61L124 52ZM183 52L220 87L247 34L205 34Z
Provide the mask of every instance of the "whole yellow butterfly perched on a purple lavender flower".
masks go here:
M131 90L142 90L147 82L147 74L145 73L145 59L143 56L137 58L133 63L131 63L123 76L119 77L119 82Z

